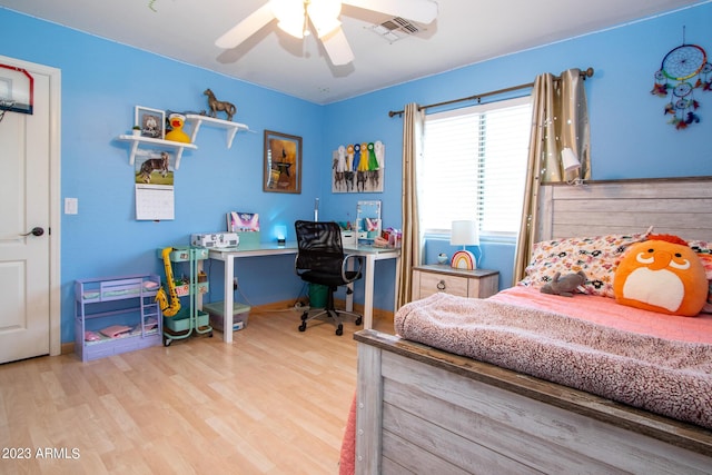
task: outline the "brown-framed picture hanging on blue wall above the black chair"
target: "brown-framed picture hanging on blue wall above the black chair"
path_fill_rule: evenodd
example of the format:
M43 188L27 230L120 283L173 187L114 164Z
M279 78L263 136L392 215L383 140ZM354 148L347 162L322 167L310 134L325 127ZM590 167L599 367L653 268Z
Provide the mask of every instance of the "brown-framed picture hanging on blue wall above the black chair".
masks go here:
M301 192L301 137L265 130L263 190Z

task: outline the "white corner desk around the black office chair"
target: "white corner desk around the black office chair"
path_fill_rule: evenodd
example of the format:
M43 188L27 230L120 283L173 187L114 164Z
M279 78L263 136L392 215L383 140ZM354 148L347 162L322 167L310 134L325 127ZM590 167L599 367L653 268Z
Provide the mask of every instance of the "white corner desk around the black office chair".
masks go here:
M373 328L374 319L374 283L376 260L382 259L396 259L396 291L399 285L398 273L398 259L400 258L399 248L382 248L374 246L356 246L344 247L344 253L363 256L365 259L364 270L364 328ZM221 260L225 263L225 299L222 307L222 338L225 343L233 343L233 278L235 277L235 259L244 257L257 257L257 256L277 256L281 254L297 254L297 243L287 243L284 246L277 244L260 243L256 246L239 246L239 247L226 247L219 249L210 249L208 257L215 260ZM353 310L354 296L353 294L346 295L346 309ZM395 298L394 298L395 309Z

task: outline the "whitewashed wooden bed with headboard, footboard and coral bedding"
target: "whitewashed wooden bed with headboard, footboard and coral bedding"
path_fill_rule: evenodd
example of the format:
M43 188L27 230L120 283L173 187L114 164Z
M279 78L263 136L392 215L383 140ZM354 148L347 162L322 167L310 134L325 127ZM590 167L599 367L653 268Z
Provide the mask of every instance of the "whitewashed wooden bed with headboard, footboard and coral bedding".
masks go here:
M651 226L659 234L709 241L712 177L546 185L540 209L540 241L627 236ZM614 325L603 319L604 305L616 305L613 298L576 295L572 300L587 300L600 310L593 321L577 324L587 340L599 343L590 348L586 338L574 342L580 353L600 358L586 366L577 359L580 353L570 352L571 345L540 342L538 347L513 350L502 343L540 326L562 328L555 318L573 317L552 301L565 297L514 287L492 299L495 303L464 303L436 295L398 309L395 336L373 329L355 334L355 428L345 437L345 446L349 434L354 437L355 473L712 473L712 315L660 318L652 325L656 329L631 335L633 323L614 314ZM527 310L531 328L512 330L498 323L497 331L508 331L503 339L482 333L482 321L474 321L476 329L467 335L463 325L445 317L431 325L433 315L437 320L452 306L514 306L522 311L524 304L516 299L533 303ZM642 320L649 311L620 307ZM487 308L478 311L487 317ZM659 325L663 320L669 323ZM442 333L448 325L454 336ZM675 327L689 328L666 338ZM683 333L692 342L683 342ZM620 355L606 354L610 342L621 335L639 339L632 359L643 360L645 368L625 366L630 362L621 364ZM472 343L464 350L448 350L453 340L463 339ZM629 349L623 349L626 356ZM547 362L546 353L553 353L553 363L541 363ZM696 359L690 362L691 355ZM558 373L573 379L558 380L542 369L557 364L567 368ZM653 383L642 377L646 372L654 375ZM671 373L683 380L670 379ZM645 386L653 389L650 395ZM626 388L623 396L616 387Z

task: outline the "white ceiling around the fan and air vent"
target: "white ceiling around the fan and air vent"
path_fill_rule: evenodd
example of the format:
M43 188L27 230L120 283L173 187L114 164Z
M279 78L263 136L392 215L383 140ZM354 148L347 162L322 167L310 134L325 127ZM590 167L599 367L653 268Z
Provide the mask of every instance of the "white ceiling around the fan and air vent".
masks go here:
M437 0L438 17L393 43L370 30L392 17L344 6L356 59L330 65L314 36L276 21L231 50L215 40L267 0L0 0L0 6L199 66L316 103L329 103L494 57L704 3L699 0ZM51 39L48 39L51 41Z

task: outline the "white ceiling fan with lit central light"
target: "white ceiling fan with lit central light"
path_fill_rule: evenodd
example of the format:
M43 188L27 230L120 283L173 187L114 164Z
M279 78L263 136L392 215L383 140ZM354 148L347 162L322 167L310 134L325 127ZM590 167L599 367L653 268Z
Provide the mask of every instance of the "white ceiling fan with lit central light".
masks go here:
M437 3L431 0L269 0L218 38L215 44L235 48L275 19L285 32L304 38L309 34L310 23L332 63L348 65L354 60L354 52L338 20L342 3L425 24L437 17Z

